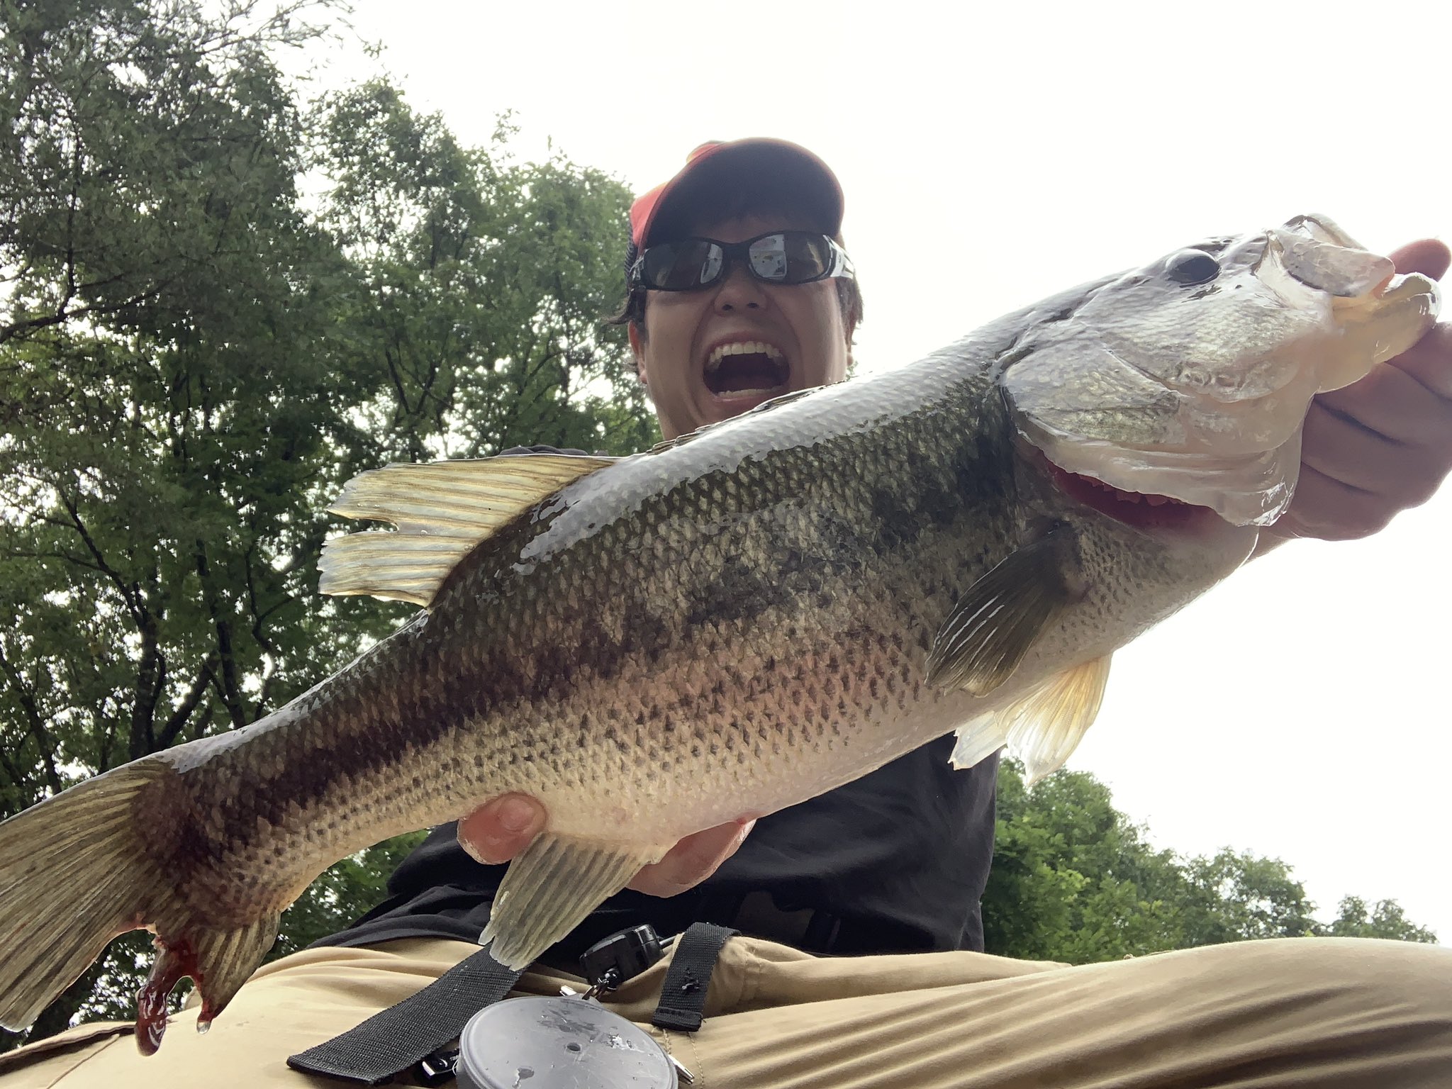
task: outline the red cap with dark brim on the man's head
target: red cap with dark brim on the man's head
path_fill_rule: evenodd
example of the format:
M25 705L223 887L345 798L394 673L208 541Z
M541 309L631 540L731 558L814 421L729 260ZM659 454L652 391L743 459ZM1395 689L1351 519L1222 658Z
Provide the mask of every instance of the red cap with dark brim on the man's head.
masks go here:
M675 177L637 197L630 205L633 250L645 248L655 227L693 218L707 203L729 199L748 184L752 195L780 193L804 203L820 215L820 228L832 237L842 229L842 186L826 163L797 144L754 136L701 144Z

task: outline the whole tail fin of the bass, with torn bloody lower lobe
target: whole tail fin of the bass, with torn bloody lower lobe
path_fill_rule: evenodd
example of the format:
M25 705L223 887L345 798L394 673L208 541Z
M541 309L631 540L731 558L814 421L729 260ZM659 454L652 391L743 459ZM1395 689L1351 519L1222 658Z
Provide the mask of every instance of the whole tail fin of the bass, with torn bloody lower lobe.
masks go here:
M183 976L202 992L199 1028L261 963L279 912L240 926L199 918L145 849L136 804L177 772L139 759L0 823L0 1025L30 1025L112 938L154 929L158 957L138 995L136 1041L154 1051Z

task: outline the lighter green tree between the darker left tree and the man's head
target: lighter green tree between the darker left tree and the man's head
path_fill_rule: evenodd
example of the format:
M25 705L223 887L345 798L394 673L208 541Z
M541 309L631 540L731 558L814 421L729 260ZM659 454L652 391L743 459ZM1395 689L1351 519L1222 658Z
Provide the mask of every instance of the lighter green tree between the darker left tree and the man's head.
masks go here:
M330 96L322 222L357 283L338 301L378 460L475 457L543 443L656 440L633 363L601 315L624 277L629 190L563 158L515 163L507 123L459 147L386 83Z

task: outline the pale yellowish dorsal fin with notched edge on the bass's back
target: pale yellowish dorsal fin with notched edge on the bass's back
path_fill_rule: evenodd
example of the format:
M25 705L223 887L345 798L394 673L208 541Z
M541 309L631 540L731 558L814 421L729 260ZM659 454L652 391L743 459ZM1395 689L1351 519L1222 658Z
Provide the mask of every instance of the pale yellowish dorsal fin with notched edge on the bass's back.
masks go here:
M427 605L479 542L566 484L614 462L505 454L359 473L328 510L346 518L391 521L398 533L372 530L330 540L318 563L318 590Z

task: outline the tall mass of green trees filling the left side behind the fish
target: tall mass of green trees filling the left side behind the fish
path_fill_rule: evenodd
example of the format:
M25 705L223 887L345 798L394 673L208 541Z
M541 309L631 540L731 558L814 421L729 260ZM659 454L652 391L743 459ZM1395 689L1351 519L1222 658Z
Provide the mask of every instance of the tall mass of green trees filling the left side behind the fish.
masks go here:
M309 15L0 0L0 815L242 726L407 614L315 592L353 473L653 436L594 325L624 189L515 163L507 129L460 148L382 83L306 112L274 55ZM407 842L319 878L279 951L378 900ZM30 1035L123 1015L144 951Z

